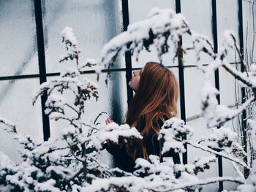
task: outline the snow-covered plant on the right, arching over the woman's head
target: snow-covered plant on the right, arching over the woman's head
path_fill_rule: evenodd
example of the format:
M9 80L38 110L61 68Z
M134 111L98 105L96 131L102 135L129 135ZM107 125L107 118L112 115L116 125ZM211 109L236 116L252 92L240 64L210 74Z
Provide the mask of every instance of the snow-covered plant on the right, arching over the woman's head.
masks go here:
M181 37L186 35L190 38L188 45L181 45ZM184 125L182 120L171 119L167 121L167 124L163 126L160 131L159 138L165 138L164 147L162 153L166 153L167 150L176 150L183 153L185 148L184 144L191 145L197 149L211 153L208 157L195 157L192 164L187 165L171 165L168 162L169 171L168 175L169 183L165 183L165 177L156 177L156 175L162 175L163 169L160 167L166 164L166 161L160 162L155 157L149 158L149 161L138 160L137 166L140 171L136 171L135 175L146 175L145 180L138 180L136 185L135 178L131 177L129 180L104 180L102 182L102 188L99 186L99 181L92 183L91 189L97 191L108 191L110 188L123 189L124 191L193 191L195 188L200 189L203 185L210 183L217 183L219 181L233 181L234 183L242 184L239 191L246 191L250 188L251 191L255 191L255 161L252 161L252 169L246 164L244 158L248 156L245 153L244 148L240 145L238 134L232 131L225 123L227 121L236 118L241 112L246 110L249 104L255 102L256 91L256 78L255 72L248 72L246 70L246 64L242 58L241 52L236 42L233 31L225 31L224 41L222 47L219 49L219 53L214 52L214 46L206 36L197 34L189 28L189 24L181 14L176 14L172 9L158 9L154 8L148 14L148 19L134 23L130 25L127 31L121 33L117 37L108 42L102 50L101 61L102 66L110 68L115 62L118 53L124 53L125 51L131 51L135 58L138 59L138 55L141 50L149 50L150 46L157 47L157 55L159 61L162 61L162 55L170 52L170 43L175 47L175 57L180 59L181 53L187 53L193 51L197 59L197 68L203 72L203 88L201 91L201 109L203 117L206 118L206 127L209 130L209 134L203 137L197 142L192 142L189 139L189 135L192 133L191 129ZM240 62L245 66L245 72L239 72L233 66L227 62L227 53L229 49L235 49L239 55ZM208 63L201 62L201 55L208 55ZM238 107L237 110L230 110L230 108L218 104L217 95L219 91L212 85L211 79L214 70L219 67L223 67L228 73L230 73L238 82L241 87L247 88L251 91L251 97L247 99L244 104ZM255 116L254 116L255 118ZM255 120L255 119L253 119ZM254 121L251 121L249 132L251 138L255 138L256 126ZM165 129L166 128L166 129ZM187 136L187 139L181 139L182 136ZM183 137L185 138L185 137ZM255 149L256 146L252 146ZM251 151L253 153L253 150ZM221 156L227 159L233 164L237 175L234 177L214 177L206 180L198 180L195 177L197 172L201 172L204 169L208 169L209 164L215 161L215 158ZM157 162L157 163L156 163ZM166 170L167 167L165 167ZM249 179L245 180L241 170L249 169L251 173ZM143 172L141 171L143 170ZM171 175L173 174L172 177ZM178 174L181 177L176 177ZM157 178L157 179L156 179ZM149 183L149 181L157 180L156 183ZM146 182L146 183L145 183ZM97 186L94 186L97 185ZM249 185L248 188L246 186ZM93 187L94 186L94 187Z

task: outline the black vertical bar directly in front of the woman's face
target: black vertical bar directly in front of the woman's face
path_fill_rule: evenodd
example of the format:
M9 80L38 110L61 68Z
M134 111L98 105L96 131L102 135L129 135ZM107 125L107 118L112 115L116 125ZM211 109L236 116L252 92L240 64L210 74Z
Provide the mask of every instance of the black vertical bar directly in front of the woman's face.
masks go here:
M124 31L127 31L127 28L129 25L128 0L122 0L121 2L122 2ZM127 79L127 102L129 104L133 98L132 88L130 88L128 85L129 80L131 80L131 78L132 78L132 53L130 51L127 51L125 53L125 66L126 66L126 79Z

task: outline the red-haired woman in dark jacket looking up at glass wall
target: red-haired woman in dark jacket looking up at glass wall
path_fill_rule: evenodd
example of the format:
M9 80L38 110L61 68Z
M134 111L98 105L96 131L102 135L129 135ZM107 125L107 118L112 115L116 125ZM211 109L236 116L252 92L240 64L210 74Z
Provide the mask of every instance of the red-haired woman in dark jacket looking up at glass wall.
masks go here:
M161 154L162 140L158 140L159 130L165 120L176 116L178 83L173 72L155 62L148 62L143 69L133 72L129 86L135 91L134 99L128 107L126 121L136 127L143 139L129 142L125 147L107 145L106 149L127 172L135 170L135 159L148 159L149 155L173 157L180 164L178 153L170 151ZM109 118L105 123L111 123Z

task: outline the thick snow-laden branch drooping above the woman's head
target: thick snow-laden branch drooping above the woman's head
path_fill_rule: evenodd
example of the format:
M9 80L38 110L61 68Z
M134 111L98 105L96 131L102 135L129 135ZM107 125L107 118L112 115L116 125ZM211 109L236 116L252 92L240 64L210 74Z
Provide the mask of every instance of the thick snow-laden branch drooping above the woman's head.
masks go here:
M181 14L176 14L173 9L154 8L148 14L148 19L129 25L127 31L114 37L102 50L100 62L105 68L115 61L119 52L132 50L138 60L138 54L143 48L149 50L150 45L155 45L158 56L169 52L167 39L174 44L182 34L189 31L187 20Z

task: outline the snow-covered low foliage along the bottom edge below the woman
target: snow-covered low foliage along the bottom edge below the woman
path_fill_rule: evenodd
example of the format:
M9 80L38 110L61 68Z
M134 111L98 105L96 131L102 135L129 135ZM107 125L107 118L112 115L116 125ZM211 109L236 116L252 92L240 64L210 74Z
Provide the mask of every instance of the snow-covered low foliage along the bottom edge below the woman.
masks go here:
M195 191L201 189L201 185L216 182L216 178L199 180L195 176L195 172L208 169L208 163L212 161L214 157L197 158L194 166L184 166L173 164L172 158L160 161L158 156L149 155L148 161L143 158L136 160L137 170L132 175L94 180L82 191ZM232 178L223 177L223 180Z

